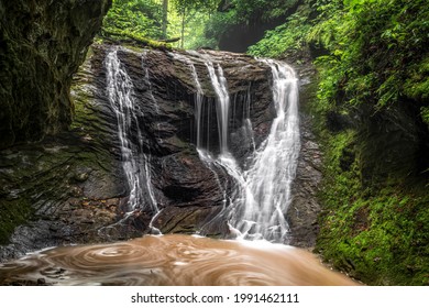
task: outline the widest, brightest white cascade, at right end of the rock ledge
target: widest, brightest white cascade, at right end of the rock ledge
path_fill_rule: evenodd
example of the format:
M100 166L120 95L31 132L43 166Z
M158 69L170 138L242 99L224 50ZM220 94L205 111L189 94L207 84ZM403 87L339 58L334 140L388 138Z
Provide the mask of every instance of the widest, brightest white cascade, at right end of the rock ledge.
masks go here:
M285 213L292 201L290 189L300 150L298 84L289 66L263 62L273 75L276 118L267 139L254 153L250 168L243 173L244 198L232 206L230 223L244 238L282 242L287 238Z

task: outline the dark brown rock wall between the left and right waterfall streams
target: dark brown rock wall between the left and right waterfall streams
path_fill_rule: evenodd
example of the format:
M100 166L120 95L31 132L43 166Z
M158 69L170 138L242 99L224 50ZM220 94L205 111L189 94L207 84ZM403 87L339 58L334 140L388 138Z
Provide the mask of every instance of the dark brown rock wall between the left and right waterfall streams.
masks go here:
M230 119L229 144L234 156L243 158L252 144L243 136L243 114L246 101L251 99L254 142L260 144L270 131L274 117L272 91L267 80L271 70L266 65L239 54L201 51L197 53L169 53L160 51L135 51L118 46L95 46L90 59L91 77L96 80L99 94L107 89L106 69L102 64L112 51L117 51L121 67L132 81L131 99L138 105L136 121L131 123L132 135L144 136L141 151L150 161L150 179L153 199L160 213L152 224L163 233L194 233L204 228L224 206L224 195L230 194L232 182L227 173L213 166L209 168L197 152L196 91L193 76L199 76L204 92L202 117L211 119L211 124L201 128L205 146L212 153L219 152L219 122L217 121L216 92L209 78L207 61L222 66L228 80L232 116ZM80 87L85 87L80 84ZM117 118L110 107L108 97L97 96L100 117L109 122L109 134L114 140L113 147L119 148ZM77 96L79 99L79 96ZM112 125L113 123L113 125ZM133 140L138 143L138 140ZM240 160L239 160L240 161ZM244 162L241 162L244 164ZM130 191L128 191L130 193ZM150 199L138 205L135 217L129 217L128 224L141 231L147 231L154 212ZM226 221L216 228L206 230L209 235L224 234Z

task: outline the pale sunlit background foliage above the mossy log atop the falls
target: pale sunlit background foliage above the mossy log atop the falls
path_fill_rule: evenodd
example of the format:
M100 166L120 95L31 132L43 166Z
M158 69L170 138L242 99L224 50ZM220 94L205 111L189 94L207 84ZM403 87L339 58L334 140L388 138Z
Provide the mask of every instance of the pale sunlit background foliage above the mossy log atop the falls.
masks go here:
M210 15L216 11L220 0L169 0L166 36L163 33L162 0L113 0L103 21L103 36L114 38L132 37L136 41L147 41L156 45L156 40L177 38L178 46L196 47L206 44L204 29Z

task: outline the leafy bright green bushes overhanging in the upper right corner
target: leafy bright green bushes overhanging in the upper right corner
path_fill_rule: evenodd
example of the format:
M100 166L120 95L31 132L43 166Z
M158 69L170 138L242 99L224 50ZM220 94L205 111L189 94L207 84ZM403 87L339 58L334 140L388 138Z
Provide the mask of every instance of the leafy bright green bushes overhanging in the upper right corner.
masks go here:
M384 108L428 96L429 4L427 1L348 0L320 6L308 40L329 56L318 59L326 80L323 101L372 103ZM426 68L425 68L426 67ZM328 84L331 86L328 86Z

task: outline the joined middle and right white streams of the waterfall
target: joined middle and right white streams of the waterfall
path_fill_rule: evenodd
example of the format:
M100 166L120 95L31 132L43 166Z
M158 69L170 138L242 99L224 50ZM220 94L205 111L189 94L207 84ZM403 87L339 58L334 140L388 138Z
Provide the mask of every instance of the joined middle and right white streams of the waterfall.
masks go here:
M295 178L297 158L300 150L298 118L298 80L292 67L280 62L261 59L261 64L272 72L273 105L276 117L270 134L255 148L252 121L250 117L251 97L248 95L243 108L243 125L255 148L243 168L229 151L228 131L230 117L230 96L228 80L222 67L205 55L204 62L217 96L217 120L219 131L219 155L215 156L201 144L201 106L196 103L197 148L200 158L215 172L213 166L223 168L235 183L234 191L229 198L220 217L228 220L230 230L244 239L265 239L273 242L287 241L288 224L285 218L292 201L292 184ZM194 70L195 72L195 68ZM193 73L197 94L201 92L198 76ZM249 91L250 92L250 91ZM227 196L224 199L227 204Z

